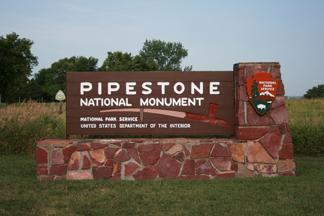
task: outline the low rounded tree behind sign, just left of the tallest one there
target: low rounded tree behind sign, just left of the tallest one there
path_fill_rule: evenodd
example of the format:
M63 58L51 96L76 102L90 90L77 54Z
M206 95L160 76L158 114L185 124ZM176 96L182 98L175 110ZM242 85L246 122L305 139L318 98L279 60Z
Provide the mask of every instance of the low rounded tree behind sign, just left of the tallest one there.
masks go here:
M156 71L158 65L152 60L121 51L107 52L107 58L98 71Z

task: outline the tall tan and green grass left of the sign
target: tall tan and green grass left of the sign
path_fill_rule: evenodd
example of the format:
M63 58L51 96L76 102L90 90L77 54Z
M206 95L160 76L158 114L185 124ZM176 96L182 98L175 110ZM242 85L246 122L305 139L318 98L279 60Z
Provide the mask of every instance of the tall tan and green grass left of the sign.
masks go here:
M0 109L0 155L34 155L36 142L65 138L65 112L35 102Z

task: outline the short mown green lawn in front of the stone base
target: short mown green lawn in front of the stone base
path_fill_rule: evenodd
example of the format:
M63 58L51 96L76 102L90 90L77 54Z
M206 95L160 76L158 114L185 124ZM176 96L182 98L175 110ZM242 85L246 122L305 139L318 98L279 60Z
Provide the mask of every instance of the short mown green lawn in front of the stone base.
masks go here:
M39 181L30 156L0 156L0 215L324 215L324 157L297 177Z

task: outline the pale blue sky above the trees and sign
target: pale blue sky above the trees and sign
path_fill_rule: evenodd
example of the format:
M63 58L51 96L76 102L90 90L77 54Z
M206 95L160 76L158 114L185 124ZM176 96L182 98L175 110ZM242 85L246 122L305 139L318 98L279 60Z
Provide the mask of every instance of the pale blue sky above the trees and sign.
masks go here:
M233 70L279 62L286 96L324 84L324 0L0 0L0 35L34 42L36 73L59 59L139 54L146 39L181 42L182 67Z

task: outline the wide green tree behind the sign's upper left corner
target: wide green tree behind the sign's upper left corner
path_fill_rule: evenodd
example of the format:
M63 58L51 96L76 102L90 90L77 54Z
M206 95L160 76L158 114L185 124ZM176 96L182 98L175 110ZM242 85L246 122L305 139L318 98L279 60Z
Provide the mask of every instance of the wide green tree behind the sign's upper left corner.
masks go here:
M38 71L29 81L28 95L33 100L43 98L54 101L58 90L66 91L66 72L97 71L98 59L94 57L72 56L54 62L50 68Z

